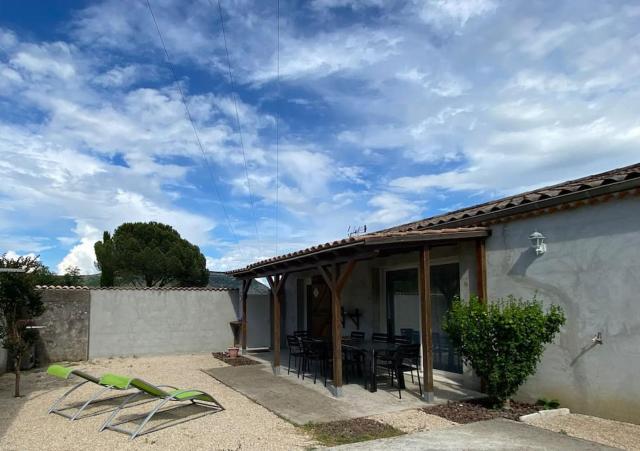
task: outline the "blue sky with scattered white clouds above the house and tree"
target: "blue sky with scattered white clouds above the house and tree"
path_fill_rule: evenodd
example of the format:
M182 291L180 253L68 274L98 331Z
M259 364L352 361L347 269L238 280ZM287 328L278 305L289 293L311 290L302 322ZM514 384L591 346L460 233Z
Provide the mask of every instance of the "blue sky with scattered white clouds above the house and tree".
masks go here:
M0 252L227 270L640 159L638 3L281 0L279 89L275 0L221 4L244 157L217 1L151 0L205 163L144 0L0 3Z

